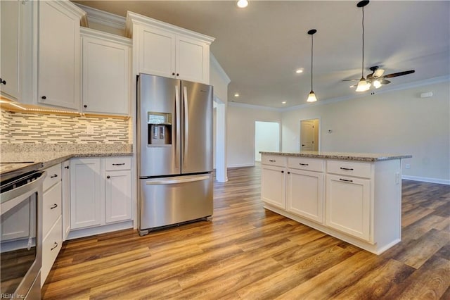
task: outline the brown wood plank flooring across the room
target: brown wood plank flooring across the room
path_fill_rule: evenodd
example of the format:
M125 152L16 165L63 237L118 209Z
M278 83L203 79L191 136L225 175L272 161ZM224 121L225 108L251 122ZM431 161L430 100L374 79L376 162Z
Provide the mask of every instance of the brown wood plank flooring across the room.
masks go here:
M403 182L402 241L376 256L266 211L259 167L214 183L214 217L65 242L44 299L450 299L450 186Z

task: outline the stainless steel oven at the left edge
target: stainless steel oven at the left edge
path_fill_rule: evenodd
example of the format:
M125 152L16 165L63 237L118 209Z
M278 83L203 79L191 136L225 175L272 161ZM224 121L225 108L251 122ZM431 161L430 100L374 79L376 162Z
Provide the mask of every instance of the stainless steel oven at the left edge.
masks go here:
M42 184L46 173L1 177L0 298L41 299Z

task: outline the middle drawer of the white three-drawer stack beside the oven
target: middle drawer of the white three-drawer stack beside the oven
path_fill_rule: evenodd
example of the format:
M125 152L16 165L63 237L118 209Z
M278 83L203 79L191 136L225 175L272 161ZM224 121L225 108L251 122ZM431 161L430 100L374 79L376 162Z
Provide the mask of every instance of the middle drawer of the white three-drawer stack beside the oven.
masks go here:
M45 237L61 215L61 182L44 192L42 203L42 237Z

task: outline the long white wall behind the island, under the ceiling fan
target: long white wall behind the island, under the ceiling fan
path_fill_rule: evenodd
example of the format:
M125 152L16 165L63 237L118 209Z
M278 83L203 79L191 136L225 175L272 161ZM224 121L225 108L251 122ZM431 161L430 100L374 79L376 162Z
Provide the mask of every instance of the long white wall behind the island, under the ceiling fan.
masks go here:
M420 98L433 92L431 98ZM411 154L409 179L450 183L449 82L283 112L282 150L298 151L299 120L321 118L321 151ZM328 130L333 130L328 133ZM405 169L405 164L411 169Z

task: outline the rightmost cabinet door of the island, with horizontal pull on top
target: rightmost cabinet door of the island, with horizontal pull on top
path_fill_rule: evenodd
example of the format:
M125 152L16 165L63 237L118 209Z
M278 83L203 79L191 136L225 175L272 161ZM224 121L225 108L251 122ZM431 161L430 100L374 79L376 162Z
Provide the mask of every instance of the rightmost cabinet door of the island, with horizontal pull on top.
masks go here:
M326 175L326 225L371 240L371 180Z

